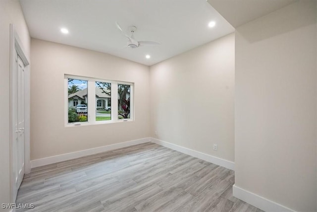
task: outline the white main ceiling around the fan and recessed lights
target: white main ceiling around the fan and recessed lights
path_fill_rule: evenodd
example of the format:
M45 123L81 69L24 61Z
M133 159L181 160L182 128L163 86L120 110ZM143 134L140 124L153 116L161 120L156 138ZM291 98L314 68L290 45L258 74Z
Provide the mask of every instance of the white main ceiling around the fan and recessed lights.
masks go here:
M148 66L234 31L206 0L20 0L31 37L108 53ZM116 28L137 27L136 40L159 46L124 48ZM213 28L208 27L215 21ZM69 34L60 33L66 27ZM146 59L145 55L151 55Z

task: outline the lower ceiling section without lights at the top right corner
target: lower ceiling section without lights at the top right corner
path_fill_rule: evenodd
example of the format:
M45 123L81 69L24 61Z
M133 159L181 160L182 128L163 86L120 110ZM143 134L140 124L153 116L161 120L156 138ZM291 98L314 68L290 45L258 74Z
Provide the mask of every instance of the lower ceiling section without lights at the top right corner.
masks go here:
M238 27L297 0L208 0L232 26Z

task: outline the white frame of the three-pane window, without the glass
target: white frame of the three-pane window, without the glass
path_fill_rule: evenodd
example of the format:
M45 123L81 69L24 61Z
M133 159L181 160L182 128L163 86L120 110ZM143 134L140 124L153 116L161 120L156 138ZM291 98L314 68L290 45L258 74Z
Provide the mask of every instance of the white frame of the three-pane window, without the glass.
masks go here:
M68 78L87 81L88 88L88 120L87 122L68 123ZM111 120L96 121L96 81L111 83ZM118 84L130 85L130 118L118 119ZM117 80L106 80L94 77L78 76L72 74L64 74L64 123L65 127L77 127L87 125L111 124L120 122L134 121L134 83Z

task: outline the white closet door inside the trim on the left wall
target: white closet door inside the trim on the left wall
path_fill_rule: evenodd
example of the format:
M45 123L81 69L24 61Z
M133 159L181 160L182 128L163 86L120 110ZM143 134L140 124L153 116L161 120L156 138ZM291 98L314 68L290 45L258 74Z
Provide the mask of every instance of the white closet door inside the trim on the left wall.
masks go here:
M21 58L16 54L16 68L13 76L13 167L15 175L15 192L19 189L24 176L24 74L25 67ZM16 196L16 195L15 195Z

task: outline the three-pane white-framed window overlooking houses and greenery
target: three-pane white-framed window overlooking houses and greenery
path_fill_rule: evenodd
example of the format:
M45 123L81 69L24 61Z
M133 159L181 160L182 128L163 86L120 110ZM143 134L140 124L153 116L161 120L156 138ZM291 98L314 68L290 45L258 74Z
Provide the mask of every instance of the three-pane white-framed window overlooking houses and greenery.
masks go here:
M65 75L65 87L65 126L133 121L133 83Z

